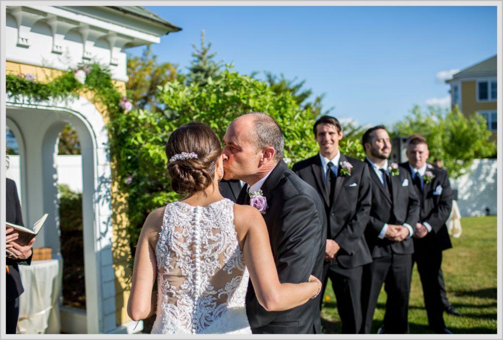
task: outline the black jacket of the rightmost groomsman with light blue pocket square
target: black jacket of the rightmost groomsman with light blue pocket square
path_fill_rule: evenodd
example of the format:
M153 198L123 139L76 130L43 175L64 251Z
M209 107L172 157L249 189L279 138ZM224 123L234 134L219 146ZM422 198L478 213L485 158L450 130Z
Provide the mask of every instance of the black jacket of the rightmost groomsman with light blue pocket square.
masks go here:
M412 177L408 162L400 164L400 168ZM427 171L435 176L430 183L423 182L423 197L419 222L427 222L432 231L421 239L414 238L414 252L421 253L429 250L444 250L452 248L451 238L445 222L452 209L453 193L447 171L427 163ZM438 187L442 188L439 193Z

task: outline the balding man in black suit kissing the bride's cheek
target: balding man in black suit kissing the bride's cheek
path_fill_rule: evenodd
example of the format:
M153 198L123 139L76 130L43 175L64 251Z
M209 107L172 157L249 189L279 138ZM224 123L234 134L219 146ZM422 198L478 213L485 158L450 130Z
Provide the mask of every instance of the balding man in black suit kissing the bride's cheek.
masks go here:
M314 188L283 161L285 142L279 125L262 112L244 114L229 124L224 142L224 178L247 184L237 203L249 204L248 192L259 190L267 199L263 216L280 282L306 282L311 274L321 279L326 238L323 203ZM251 330L255 334L320 334L320 298L318 292L302 306L268 312L250 282L246 314Z

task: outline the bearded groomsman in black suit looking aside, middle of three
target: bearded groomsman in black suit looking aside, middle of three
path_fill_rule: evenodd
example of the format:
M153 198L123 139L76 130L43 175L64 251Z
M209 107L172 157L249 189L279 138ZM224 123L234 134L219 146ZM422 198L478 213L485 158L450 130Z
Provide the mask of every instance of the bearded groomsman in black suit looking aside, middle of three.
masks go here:
M363 273L362 333L370 333L377 299L384 284L387 293L384 325L380 333L406 334L412 271L412 236L419 219L419 200L407 171L388 164L391 143L382 125L368 129L362 138L365 162L372 178L372 207L365 239L372 262Z

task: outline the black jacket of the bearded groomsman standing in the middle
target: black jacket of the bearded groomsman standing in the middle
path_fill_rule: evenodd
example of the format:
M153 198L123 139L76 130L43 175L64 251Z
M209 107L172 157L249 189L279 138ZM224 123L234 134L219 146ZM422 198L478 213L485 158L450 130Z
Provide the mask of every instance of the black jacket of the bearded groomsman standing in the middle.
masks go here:
M390 176L392 195L389 194L372 165L365 159L372 179L372 208L370 220L365 229L365 238L372 258L379 258L391 253L412 254L414 252L413 237L401 242L393 242L378 237L385 223L402 225L407 223L415 231L419 221L419 199L415 193L412 179L408 171L400 169L398 175Z

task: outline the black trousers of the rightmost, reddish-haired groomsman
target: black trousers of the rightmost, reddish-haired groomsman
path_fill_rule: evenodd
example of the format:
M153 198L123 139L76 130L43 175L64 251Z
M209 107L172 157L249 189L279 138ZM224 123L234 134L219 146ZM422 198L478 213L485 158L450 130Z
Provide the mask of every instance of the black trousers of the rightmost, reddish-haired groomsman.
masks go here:
M442 287L439 283L442 251L429 250L415 253L412 259L417 263L417 271L423 285L428 323L433 330L440 332L445 328Z

